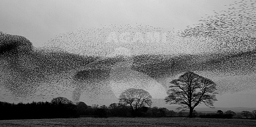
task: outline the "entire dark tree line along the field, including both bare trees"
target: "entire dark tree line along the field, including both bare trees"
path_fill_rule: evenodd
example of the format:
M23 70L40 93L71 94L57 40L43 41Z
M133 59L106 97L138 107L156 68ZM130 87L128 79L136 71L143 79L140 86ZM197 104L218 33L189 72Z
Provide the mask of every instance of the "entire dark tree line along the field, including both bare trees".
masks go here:
M168 96L165 102L181 105L174 112L166 108L158 108L152 105L152 96L143 89L129 88L119 96L119 103L106 105L88 106L84 102L72 103L67 98L53 98L51 102L32 103L7 103L0 101L0 119L39 119L39 118L70 118L79 116L122 116L122 117L174 117L188 116L193 118L232 118L235 114L232 111L223 113L218 110L216 114L199 114L194 109L203 103L207 107L214 108L213 103L217 101L215 94L216 84L194 72L186 72L178 79L170 82L172 85L167 91ZM147 107L149 106L149 107ZM189 109L189 112L184 112ZM243 111L241 114L246 118L255 118L256 110Z

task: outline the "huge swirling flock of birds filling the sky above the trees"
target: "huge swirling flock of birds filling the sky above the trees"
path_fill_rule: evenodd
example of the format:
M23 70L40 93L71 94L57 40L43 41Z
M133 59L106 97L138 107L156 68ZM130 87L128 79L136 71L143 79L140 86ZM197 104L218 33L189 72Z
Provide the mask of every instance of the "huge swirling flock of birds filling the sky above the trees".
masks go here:
M61 33L41 48L0 32L0 87L6 90L0 99L70 95L105 104L127 88L163 98L169 82L186 71L212 79L220 94L255 89L255 3L236 1L184 31L101 25Z

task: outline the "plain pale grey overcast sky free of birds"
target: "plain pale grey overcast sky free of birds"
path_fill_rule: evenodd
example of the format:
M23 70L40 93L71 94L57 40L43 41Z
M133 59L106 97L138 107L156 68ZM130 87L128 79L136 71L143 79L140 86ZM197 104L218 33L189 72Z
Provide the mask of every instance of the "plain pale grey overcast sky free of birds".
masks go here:
M111 24L185 29L235 0L0 0L0 31L41 46L59 33ZM216 107L256 107L256 90L217 96ZM1 101L1 100L0 100ZM226 102L226 103L224 103Z

